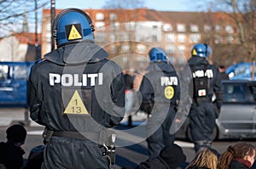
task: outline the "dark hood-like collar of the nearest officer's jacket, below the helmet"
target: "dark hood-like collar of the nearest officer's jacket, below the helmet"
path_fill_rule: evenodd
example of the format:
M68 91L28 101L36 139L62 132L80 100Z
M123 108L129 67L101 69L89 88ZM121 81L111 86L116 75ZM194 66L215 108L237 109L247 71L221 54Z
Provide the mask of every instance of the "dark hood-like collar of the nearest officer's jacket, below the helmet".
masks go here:
M108 53L91 40L68 44L44 55L44 59L58 65L98 62L106 58Z

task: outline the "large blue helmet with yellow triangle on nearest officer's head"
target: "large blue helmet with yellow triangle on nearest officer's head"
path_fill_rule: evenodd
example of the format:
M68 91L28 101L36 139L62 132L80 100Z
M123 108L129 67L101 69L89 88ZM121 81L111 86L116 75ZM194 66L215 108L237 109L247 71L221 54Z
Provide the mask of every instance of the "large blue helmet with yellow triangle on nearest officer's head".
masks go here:
M53 22L53 37L58 48L83 39L94 40L93 31L90 16L79 8L62 10Z

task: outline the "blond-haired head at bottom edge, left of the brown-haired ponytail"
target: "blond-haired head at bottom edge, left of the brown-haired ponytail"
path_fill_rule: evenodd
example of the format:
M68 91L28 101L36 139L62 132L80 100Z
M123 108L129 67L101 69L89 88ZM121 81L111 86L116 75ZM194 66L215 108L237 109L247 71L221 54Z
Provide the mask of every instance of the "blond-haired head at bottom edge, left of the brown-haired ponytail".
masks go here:
M201 150L186 169L217 169L218 151L211 148Z

